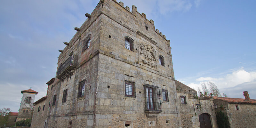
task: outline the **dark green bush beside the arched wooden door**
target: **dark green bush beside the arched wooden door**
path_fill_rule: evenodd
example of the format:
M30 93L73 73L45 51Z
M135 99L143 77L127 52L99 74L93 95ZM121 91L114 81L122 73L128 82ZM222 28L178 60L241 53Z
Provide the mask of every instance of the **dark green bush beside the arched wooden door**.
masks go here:
M221 110L216 112L216 120L219 128L229 128L228 116Z

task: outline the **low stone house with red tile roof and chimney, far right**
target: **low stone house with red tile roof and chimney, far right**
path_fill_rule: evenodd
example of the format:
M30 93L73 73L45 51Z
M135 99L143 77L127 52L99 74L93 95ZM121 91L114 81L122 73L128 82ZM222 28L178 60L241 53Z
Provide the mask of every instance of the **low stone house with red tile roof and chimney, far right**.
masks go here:
M254 128L256 126L256 100L247 91L244 98L213 97L213 103L228 116L230 128Z

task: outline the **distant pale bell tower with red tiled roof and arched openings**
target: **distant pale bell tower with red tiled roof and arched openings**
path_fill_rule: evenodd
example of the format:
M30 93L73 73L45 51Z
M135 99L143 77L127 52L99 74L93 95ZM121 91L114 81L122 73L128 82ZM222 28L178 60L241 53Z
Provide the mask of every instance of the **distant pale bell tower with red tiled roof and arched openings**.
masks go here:
M38 92L32 90L31 88L28 90L21 91L22 98L20 103L19 114L17 117L17 121L24 120L26 118L31 118L33 114L33 103Z

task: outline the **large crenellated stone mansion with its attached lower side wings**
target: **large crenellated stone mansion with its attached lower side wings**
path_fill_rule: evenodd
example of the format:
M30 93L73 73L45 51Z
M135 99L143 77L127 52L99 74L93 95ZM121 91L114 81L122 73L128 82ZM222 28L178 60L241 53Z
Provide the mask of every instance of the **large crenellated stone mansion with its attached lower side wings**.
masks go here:
M59 50L56 78L34 103L31 127L198 128L204 113L211 115L209 127L216 127L214 109L207 110L211 99L196 99L192 89L177 93L170 40L146 14L100 0L85 16Z

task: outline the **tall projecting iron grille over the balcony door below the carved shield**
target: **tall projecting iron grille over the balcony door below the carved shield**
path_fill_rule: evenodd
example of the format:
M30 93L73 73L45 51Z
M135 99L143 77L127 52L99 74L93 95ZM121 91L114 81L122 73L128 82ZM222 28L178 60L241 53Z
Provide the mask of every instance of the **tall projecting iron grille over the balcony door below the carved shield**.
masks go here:
M160 87L145 84L146 111L162 111Z

